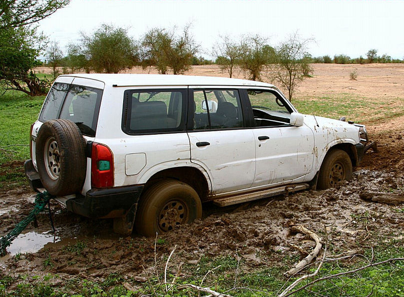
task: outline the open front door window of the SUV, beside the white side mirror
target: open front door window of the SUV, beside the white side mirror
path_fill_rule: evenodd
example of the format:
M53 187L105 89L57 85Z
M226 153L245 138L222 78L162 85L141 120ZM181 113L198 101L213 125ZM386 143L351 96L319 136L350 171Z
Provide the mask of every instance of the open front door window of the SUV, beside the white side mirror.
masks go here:
M248 90L255 127L288 125L292 109L275 91Z

